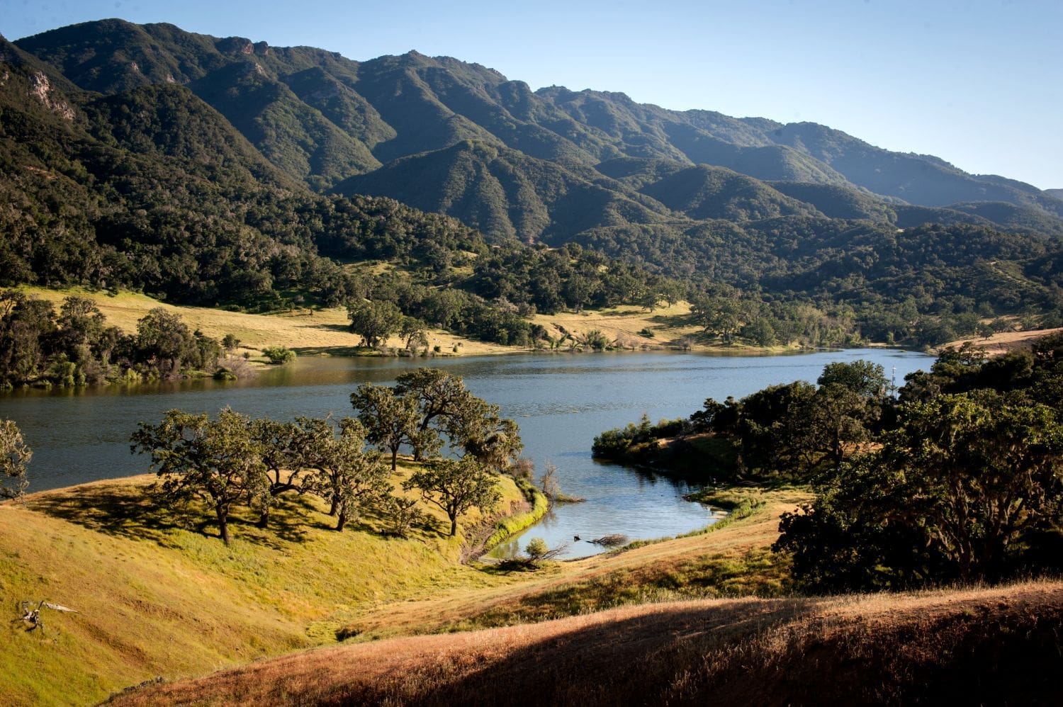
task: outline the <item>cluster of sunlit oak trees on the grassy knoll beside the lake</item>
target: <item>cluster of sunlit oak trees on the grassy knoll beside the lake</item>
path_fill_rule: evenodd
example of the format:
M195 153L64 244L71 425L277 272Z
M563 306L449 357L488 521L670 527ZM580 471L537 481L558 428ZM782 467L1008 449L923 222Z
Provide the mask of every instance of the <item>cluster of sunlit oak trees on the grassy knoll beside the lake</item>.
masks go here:
M442 509L450 535L472 508L490 511L501 495L497 476L522 449L517 424L473 395L459 376L422 368L394 386L359 386L351 395L354 417L253 419L232 409L217 418L170 410L157 423L140 422L132 451L148 454L159 476L163 505L198 499L213 512L221 539L244 506L259 527L286 495L310 494L328 505L343 531L373 509L405 537L424 520L418 499L393 493L399 451L408 445L420 464L402 482L420 501ZM446 443L453 456L440 451Z

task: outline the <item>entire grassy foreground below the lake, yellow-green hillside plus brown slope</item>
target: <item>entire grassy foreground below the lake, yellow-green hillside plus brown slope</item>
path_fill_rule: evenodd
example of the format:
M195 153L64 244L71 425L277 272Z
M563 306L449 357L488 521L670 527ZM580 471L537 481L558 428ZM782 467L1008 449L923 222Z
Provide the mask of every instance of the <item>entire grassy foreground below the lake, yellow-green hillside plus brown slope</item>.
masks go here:
M302 500L270 531L238 519L225 548L203 517L148 509L147 481L0 505L3 603L78 611L45 609L44 635L5 629L5 703L1036 703L1060 689L1063 583L791 596L767 546L799 489L742 491L746 511L709 532L528 572L461 565L438 528L383 537L371 515L337 534ZM337 636L352 640L327 647Z

